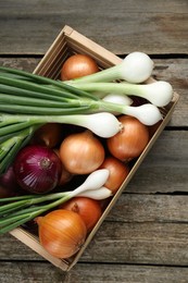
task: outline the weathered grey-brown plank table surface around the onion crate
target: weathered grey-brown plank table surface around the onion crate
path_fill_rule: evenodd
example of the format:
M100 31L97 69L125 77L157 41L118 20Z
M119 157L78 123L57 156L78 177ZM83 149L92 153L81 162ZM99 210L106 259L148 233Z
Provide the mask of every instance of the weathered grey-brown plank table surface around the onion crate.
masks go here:
M0 65L32 72L64 25L121 57L150 54L180 99L76 267L3 235L0 282L188 282L188 1L1 0Z

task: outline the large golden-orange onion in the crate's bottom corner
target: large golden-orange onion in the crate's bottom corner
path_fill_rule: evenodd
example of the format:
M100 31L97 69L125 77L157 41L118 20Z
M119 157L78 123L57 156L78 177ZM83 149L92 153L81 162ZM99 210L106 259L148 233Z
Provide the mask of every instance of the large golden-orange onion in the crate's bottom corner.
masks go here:
M87 230L83 219L75 212L58 209L38 217L41 246L55 258L70 258L85 243Z

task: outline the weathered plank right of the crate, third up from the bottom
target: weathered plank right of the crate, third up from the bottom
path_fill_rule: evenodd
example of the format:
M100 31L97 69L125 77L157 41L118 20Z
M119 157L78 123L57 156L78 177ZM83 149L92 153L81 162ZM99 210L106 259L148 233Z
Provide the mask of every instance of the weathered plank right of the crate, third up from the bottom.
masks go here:
M106 221L188 223L187 195L123 194Z

